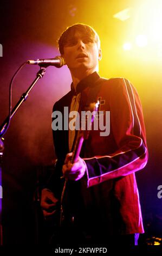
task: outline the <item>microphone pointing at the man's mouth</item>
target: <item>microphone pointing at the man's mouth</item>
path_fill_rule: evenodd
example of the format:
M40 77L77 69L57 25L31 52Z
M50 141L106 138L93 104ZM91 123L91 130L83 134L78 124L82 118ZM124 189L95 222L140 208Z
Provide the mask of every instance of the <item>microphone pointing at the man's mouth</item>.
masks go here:
M53 59L29 59L27 63L40 66L56 66L56 68L61 68L63 65L66 64L61 56L56 56Z

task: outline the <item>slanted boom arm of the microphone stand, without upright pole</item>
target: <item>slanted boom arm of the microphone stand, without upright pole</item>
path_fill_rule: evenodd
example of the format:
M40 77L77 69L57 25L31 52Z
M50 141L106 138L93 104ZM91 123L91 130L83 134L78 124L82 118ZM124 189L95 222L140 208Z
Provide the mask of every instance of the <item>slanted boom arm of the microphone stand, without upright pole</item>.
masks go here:
M17 112L18 108L20 108L20 106L22 105L22 103L27 99L28 94L30 93L30 90L33 89L33 87L35 86L36 82L42 78L44 76L46 72L46 67L41 67L41 69L37 72L37 76L35 78L35 80L33 81L33 83L31 83L31 86L28 88L27 92L23 93L20 100L16 103L15 107L12 109L11 111L11 117L10 119L13 117L13 115ZM2 123L2 125L0 126L0 138L3 136L3 133L5 131L5 128L8 124L8 120L9 120L9 115L8 117L4 120L4 122Z

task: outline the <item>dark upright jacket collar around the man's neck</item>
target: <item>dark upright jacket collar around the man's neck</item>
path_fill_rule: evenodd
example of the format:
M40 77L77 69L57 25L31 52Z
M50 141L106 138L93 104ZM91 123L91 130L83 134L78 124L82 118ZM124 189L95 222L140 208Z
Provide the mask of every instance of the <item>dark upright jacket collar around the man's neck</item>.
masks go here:
M75 92L75 94L81 93L86 87L93 87L94 83L100 78L99 74L95 71L94 73L83 78L76 86L76 92L71 84L71 90Z

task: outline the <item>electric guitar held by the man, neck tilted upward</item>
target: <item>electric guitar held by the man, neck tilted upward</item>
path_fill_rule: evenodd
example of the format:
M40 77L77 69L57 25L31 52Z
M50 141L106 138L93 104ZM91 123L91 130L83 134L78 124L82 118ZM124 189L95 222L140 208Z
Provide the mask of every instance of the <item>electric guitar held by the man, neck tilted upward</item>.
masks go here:
M83 141L85 139L88 139L89 131L91 130L92 123L94 121L94 114L96 113L96 111L98 111L98 107L99 107L99 101L90 103L89 106L85 107L85 111L90 111L90 113L92 113L92 115L90 115L91 120L88 120L88 118L87 118L85 120L85 129L84 130L80 129L78 131L77 138L76 138L76 141L74 144L73 156L72 156L72 160L71 160L72 163L75 163L77 161L77 159L80 155ZM87 130L86 130L86 127L87 127ZM61 178L64 179L64 177L61 177ZM64 220L66 219L66 214L64 211L64 200L66 197L66 188L67 188L69 182L70 181L68 179L64 180L63 190L62 190L62 194L61 194L60 227L63 225ZM71 222L73 222L73 221L74 221L74 217L72 217Z

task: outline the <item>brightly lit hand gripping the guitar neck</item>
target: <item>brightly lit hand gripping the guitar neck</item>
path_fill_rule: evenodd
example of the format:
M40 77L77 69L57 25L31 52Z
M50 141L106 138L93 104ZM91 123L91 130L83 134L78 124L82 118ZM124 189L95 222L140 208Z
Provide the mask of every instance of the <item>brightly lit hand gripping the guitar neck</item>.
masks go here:
M64 160L62 173L69 180L80 180L86 172L86 163L79 156L77 162L71 163L73 153L68 153Z

